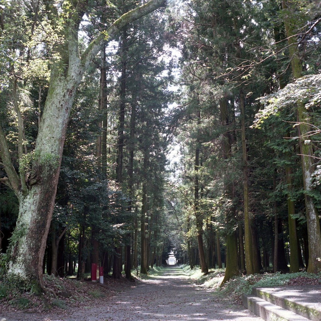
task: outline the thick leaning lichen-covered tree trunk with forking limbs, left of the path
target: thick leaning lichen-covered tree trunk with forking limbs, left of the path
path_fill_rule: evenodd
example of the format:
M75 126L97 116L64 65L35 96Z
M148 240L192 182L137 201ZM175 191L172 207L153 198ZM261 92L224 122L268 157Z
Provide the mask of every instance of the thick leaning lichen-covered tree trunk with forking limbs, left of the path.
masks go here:
M73 15L64 22L54 51L60 59L53 59L50 66L50 83L43 115L39 125L32 162L33 180L26 182L24 169L20 177L13 168L9 146L4 132L0 129L0 156L8 177L6 184L11 187L19 200L19 216L11 238L9 249L9 273L28 283L43 288L42 264L46 240L50 227L56 188L60 172L60 162L65 142L65 134L74 95L93 57L100 51L101 44L115 38L128 23L154 11L164 4L164 0L151 0L131 10L110 24L79 54L78 30L82 16L87 10L86 1L76 1L70 8ZM48 20L55 28L59 15L55 6L49 7ZM69 10L69 9L68 9ZM69 13L68 13L69 14ZM19 122L19 158L23 157L23 125Z

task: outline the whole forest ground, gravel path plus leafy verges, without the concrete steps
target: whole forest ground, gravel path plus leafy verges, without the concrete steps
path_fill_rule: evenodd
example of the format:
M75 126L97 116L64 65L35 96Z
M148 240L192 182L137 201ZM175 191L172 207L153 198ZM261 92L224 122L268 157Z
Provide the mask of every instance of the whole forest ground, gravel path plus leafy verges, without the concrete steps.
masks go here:
M259 321L242 306L242 294L253 286L321 284L321 274L262 273L236 276L221 287L223 276L223 269L203 275L188 265L157 267L135 282L105 277L104 284L44 274L51 289L47 311L40 298L2 280L0 321Z

